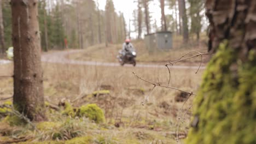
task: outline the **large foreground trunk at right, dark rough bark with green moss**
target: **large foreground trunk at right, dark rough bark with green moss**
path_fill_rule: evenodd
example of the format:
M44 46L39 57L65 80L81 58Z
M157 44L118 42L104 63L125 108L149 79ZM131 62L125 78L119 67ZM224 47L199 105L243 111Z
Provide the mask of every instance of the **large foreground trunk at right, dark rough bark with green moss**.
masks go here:
M187 143L256 143L256 1L207 0L212 59Z

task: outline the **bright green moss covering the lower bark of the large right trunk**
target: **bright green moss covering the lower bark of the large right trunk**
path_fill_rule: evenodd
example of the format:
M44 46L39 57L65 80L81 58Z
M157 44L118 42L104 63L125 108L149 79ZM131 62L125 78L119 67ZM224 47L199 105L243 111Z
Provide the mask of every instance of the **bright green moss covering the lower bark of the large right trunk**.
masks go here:
M190 129L187 143L256 143L255 74L254 50L242 62L226 41L220 44L194 100L199 121Z

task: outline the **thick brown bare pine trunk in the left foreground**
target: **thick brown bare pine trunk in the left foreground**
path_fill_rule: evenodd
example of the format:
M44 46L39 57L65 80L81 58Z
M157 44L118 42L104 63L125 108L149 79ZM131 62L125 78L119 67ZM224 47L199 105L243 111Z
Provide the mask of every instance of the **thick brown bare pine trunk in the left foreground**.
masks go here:
M15 109L32 121L44 121L38 1L12 0Z

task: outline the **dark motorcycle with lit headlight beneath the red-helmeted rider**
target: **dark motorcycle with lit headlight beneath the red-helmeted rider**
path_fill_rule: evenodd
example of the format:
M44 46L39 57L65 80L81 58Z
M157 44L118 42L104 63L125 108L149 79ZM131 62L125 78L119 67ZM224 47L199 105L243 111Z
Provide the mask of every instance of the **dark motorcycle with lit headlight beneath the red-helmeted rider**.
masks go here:
M117 58L118 58L120 65L123 66L124 64L132 64L135 67L136 55L137 55L137 53L135 52L135 50L130 50L130 51L126 51L126 52L120 50Z

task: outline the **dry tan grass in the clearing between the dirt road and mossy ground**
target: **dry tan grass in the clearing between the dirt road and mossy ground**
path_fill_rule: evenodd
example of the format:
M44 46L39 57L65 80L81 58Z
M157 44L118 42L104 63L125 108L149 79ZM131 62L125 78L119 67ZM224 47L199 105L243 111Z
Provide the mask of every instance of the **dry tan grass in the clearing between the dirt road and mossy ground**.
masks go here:
M12 64L0 65L0 75L11 75L12 67ZM90 94L102 89L102 85L109 88L110 95L84 98L79 100L79 103L73 104L79 106L97 103L105 112L107 127L119 124L120 128L111 128L107 131L101 130L101 126L97 128L97 134L105 139L116 137L122 141L128 136L130 137L128 139L136 139L139 143L149 143L155 139L166 143L174 142L174 136L169 133L177 129L177 114L183 103L177 103L174 97L179 92L156 88L150 95L147 105L142 106L141 102L153 86L136 79L132 74L134 71L144 79L154 82L158 82L159 79L164 84L168 83L167 69L43 63L43 70L45 99L54 104L59 103L62 98L72 101L81 94ZM201 74L202 70L199 74L195 74L195 70L171 69L170 86L196 92ZM13 94L11 78L1 79L0 87L1 98ZM191 105L192 99L185 104L182 113ZM187 132L190 114L189 111L180 131ZM57 118L56 115L49 117L63 119L63 117Z

